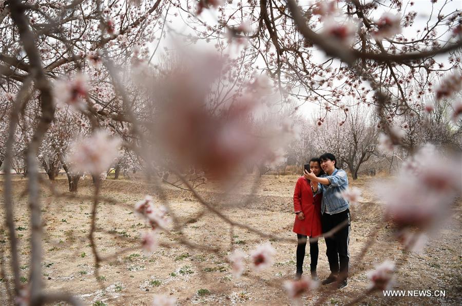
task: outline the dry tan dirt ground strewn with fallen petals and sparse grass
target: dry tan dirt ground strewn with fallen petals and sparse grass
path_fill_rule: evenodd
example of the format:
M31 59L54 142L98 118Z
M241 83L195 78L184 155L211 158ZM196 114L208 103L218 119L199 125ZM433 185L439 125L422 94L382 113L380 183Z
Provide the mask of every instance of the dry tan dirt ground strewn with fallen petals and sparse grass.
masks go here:
M1 179L1 178L0 178ZM247 177L240 181L237 191L223 197L223 187L208 183L199 188L200 194L211 205L230 219L255 227L265 233L283 238L295 238L292 195L296 176L263 176L255 184L256 196L247 194L253 188ZM351 185L363 190L363 199L352 208L350 240L351 276L348 287L333 291L323 302L325 305L346 304L368 289L366 273L374 263L391 259L399 264L394 289L445 291L445 297L383 297L382 292L365 298L361 304L462 304L462 256L461 256L461 208L460 200L452 212L452 220L444 225L440 236L432 239L422 254L404 251L392 237L388 225L381 223L381 205L375 200L371 183L376 178L360 178ZM14 181L15 227L20 240L22 282L26 283L29 270L29 214L27 198L21 197L26 179ZM60 177L53 183L58 192L66 194L67 180ZM79 183L79 196L90 196L91 181ZM179 304L246 304L288 305L282 283L295 274L296 244L270 239L276 249L271 268L255 272L247 266L244 275L236 280L230 274L225 261L233 237L234 247L252 250L257 244L268 241L245 229L230 226L216 215L204 210L190 192L163 186L171 210L184 223L183 230L161 234L163 247L152 255L145 255L136 248L144 222L133 214L133 205L146 194L159 195L153 187L142 181L112 180L103 183L98 208L96 234L98 250L109 256L124 251L117 257L104 261L99 281L95 279L94 261L88 233L91 217L90 198L52 197L42 188L44 251L43 279L47 290L66 290L94 305L149 305L154 294L171 294ZM3 188L3 186L2 186ZM392 191L391 191L392 192ZM111 200L112 199L112 200ZM233 204L233 205L231 205ZM405 203L403 203L405 205ZM3 207L0 217L4 218ZM373 237L374 244L362 262L356 262L360 250L370 234L379 226ZM179 243L181 237L190 243L219 248L217 253L194 250ZM9 241L5 230L0 233L6 263L9 263ZM309 271L310 257L307 247L304 270ZM319 241L318 275L324 279L329 274L325 256L325 243ZM10 276L7 276L7 278ZM330 289L321 287L313 296L303 297L304 304L312 304L325 296ZM0 282L0 303L6 304L5 281Z

